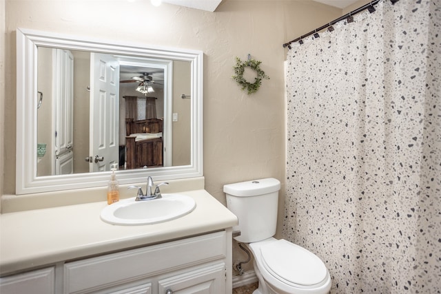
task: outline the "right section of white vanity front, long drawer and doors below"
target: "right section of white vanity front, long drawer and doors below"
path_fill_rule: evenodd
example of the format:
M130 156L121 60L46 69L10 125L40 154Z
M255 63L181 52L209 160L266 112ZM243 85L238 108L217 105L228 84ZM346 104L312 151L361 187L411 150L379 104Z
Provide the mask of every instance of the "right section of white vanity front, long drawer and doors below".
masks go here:
M230 239L231 233L218 231L66 262L63 292L229 293Z

